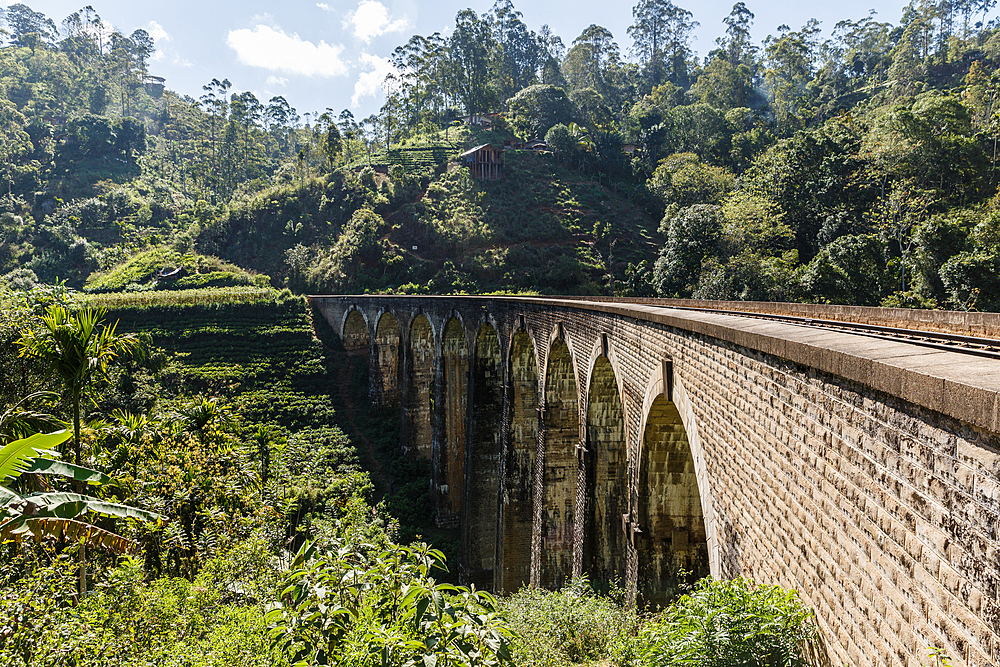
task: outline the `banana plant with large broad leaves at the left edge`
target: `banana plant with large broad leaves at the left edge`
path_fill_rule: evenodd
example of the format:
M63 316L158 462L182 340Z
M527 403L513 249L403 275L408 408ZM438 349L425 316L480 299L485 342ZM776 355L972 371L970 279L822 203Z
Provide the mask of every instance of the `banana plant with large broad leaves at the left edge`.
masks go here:
M67 430L37 433L0 448L0 542L41 540L44 537L84 540L120 553L138 553L139 545L117 533L83 520L88 514L132 518L159 523L163 517L129 505L112 503L62 491L27 495L7 484L22 473L58 475L78 484L108 484L110 477L98 470L60 461L54 451L69 440Z

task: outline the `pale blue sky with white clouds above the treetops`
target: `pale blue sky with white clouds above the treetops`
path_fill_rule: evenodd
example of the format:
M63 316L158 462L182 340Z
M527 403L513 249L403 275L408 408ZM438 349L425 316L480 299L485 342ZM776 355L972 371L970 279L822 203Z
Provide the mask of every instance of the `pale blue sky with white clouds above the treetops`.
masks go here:
M722 18L734 0L677 2L700 22L694 49L704 56L723 32ZM285 0L215 2L213 0L36 0L26 2L57 24L85 4L92 4L106 22L128 34L147 30L156 40L153 74L167 86L198 97L201 86L228 78L236 92L253 91L261 100L283 95L305 112L327 107L350 108L363 117L381 105L380 83L388 71L387 57L413 34L445 33L455 14L466 7L483 13L492 0ZM9 5L10 0L0 0ZM532 0L515 2L532 30L549 24L567 46L591 23L614 34L627 54L631 41L632 2L607 0ZM785 23L793 29L819 19L824 34L845 18L858 19L870 9L882 21L897 23L905 2L840 0L821 3L781 3L746 0L754 12L753 35L759 42Z

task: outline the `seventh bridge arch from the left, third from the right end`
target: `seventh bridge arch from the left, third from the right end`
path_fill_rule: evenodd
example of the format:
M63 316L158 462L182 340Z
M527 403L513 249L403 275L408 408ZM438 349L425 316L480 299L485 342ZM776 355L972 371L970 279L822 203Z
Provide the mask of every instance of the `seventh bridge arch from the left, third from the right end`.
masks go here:
M573 575L580 412L576 372L566 340L557 337L547 356L538 583L555 589Z

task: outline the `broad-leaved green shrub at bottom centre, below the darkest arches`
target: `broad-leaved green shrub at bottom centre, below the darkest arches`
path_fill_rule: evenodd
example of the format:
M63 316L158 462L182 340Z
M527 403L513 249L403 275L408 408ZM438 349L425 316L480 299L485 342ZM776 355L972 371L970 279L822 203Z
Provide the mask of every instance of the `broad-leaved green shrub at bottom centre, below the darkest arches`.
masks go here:
M437 583L444 556L426 544L304 546L268 614L276 646L306 665L509 664L509 633L489 593Z

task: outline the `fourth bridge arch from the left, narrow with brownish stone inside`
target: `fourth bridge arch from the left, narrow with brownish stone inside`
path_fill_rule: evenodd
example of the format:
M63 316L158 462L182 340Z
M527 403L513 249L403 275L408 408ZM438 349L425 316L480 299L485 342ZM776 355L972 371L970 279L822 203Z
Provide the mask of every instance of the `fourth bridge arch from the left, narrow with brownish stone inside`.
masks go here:
M465 327L452 316L441 336L441 444L438 451L438 524L457 526L462 514L466 416L469 400L469 346Z

